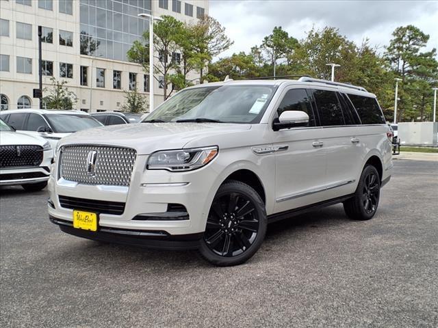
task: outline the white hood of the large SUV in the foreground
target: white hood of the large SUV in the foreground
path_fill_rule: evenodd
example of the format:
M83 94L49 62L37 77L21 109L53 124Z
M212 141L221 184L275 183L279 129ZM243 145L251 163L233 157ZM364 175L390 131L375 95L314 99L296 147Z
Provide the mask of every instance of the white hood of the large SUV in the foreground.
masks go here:
M151 154L156 150L183 148L188 142L204 137L217 135L219 141L225 134L250 128L250 124L192 122L120 124L73 133L60 140L58 145L110 145L134 148L138 154Z

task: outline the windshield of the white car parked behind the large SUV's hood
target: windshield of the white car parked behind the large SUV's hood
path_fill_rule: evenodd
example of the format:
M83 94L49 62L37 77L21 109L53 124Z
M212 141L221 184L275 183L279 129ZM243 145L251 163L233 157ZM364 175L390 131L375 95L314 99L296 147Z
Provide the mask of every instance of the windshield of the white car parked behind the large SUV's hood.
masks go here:
M86 128L102 126L99 121L94 120L89 115L46 114L44 116L55 133L72 133L85 130Z

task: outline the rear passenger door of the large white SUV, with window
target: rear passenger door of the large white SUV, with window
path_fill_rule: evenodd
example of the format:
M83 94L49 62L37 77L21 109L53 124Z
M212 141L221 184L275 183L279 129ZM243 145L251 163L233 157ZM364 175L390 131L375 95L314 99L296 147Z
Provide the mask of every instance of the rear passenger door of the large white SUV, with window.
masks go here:
M361 171L365 156L363 143L358 136L357 116L350 112L344 96L335 90L313 90L313 98L324 131L326 195L335 198L353 193L357 172Z

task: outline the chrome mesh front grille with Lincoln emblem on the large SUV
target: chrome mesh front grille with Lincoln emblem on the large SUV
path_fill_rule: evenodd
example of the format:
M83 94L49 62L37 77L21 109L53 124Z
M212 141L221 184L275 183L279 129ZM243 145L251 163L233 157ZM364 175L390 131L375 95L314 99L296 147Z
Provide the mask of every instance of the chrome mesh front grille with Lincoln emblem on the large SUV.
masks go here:
M131 148L64 146L60 150L60 176L83 184L129 186L135 161L136 150Z

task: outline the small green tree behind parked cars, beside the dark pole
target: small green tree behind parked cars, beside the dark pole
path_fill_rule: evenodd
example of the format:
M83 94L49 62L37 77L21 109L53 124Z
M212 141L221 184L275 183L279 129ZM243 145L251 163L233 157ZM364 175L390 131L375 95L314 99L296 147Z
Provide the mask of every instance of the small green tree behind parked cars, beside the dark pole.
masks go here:
M49 92L49 96L42 98L48 109L73 109L77 102L75 92L68 90L67 81L57 81L51 77L51 89L44 88L44 92Z

